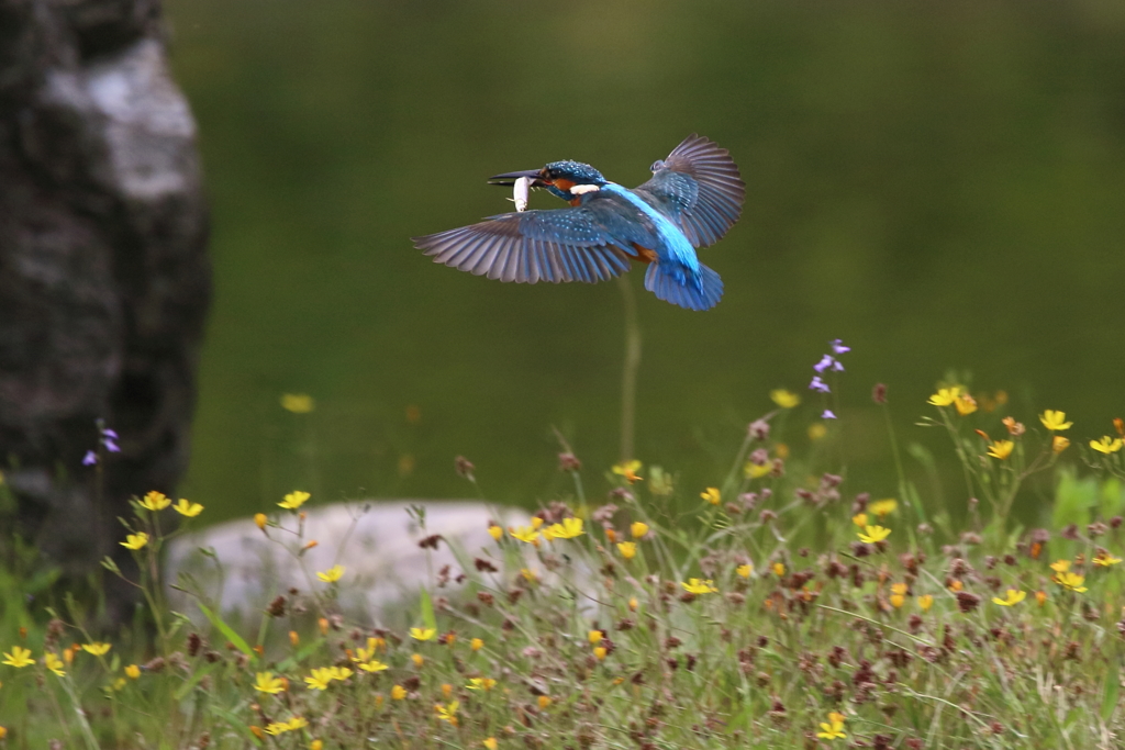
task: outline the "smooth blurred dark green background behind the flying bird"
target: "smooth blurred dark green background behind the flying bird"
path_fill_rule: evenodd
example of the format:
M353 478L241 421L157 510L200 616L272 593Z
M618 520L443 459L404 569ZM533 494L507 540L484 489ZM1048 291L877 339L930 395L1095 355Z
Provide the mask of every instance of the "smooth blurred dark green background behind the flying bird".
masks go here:
M295 488L493 499L565 485L557 426L616 460L615 284L516 286L408 237L510 209L494 173L577 159L633 186L698 132L747 182L688 313L639 290L638 454L695 497L830 338L850 493L894 493L882 417L950 368L1072 437L1125 415L1125 4L170 0L217 295L181 493L212 519ZM546 193L533 207L552 207ZM307 392L308 415L281 409ZM993 415L998 421L1001 414ZM999 432L997 431L997 435ZM1077 458L1077 457L1076 457ZM953 493L953 498L956 493ZM963 501L963 497L958 501Z

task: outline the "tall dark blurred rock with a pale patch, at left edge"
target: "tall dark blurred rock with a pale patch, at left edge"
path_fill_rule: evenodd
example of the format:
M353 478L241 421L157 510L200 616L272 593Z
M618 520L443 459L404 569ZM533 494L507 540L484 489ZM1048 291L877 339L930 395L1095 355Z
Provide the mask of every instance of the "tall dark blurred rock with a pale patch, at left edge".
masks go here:
M188 459L207 210L162 36L159 0L0 0L0 468L16 532L78 579L130 566L116 517ZM112 616L133 594L107 586Z

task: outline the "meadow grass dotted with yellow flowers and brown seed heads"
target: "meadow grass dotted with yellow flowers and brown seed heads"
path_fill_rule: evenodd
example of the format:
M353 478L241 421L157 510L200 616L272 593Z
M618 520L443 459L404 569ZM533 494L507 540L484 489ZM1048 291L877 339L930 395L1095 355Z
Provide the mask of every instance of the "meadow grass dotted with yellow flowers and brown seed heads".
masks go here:
M9 544L0 748L1120 747L1125 425L1072 446L1065 415L1027 427L938 389L919 412L950 436L947 484L973 498L954 528L893 435L897 497L844 497L825 470L838 423L772 396L713 487L622 462L593 501L564 445L574 491L433 571L398 627L345 614L346 566L237 625L184 578L207 626L192 624L165 603L161 548L170 516L204 509L159 493L133 500L123 539L141 571L130 627L91 632L72 598L32 604L51 573ZM804 431L795 455L786 436ZM1009 517L1033 477L1051 528ZM256 517L298 559L307 499Z

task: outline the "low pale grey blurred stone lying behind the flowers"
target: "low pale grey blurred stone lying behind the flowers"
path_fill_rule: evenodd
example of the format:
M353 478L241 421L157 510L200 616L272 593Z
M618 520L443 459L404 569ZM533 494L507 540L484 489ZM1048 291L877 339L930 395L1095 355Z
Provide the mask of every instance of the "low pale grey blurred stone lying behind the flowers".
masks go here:
M425 528L411 516L412 506L425 508ZM287 530L297 530L297 516L289 512L276 516ZM404 599L413 599L422 586L441 596L454 597L461 586L451 580L444 589L433 588L443 566L450 577L462 571L474 576L475 558L484 558L498 572L483 575L510 580L520 568L538 568L530 561L534 548L508 542L505 560L501 546L488 534L490 522L503 527L526 525L530 515L522 509L489 506L478 500L380 500L342 503L314 507L307 512L304 530L294 533L267 526L269 537L253 518L231 521L177 537L168 548L166 581L176 585L181 573L194 579L204 595L219 603L224 612L261 612L289 588L309 594L327 587L316 573L334 564L344 567L340 587L345 593L341 604L354 616L378 620L382 611ZM436 550L418 542L440 534ZM316 546L298 554L315 540ZM200 552L213 550L214 558ZM528 555L528 557L524 557ZM218 564L216 564L216 560ZM173 608L192 617L198 608L183 591L170 588Z

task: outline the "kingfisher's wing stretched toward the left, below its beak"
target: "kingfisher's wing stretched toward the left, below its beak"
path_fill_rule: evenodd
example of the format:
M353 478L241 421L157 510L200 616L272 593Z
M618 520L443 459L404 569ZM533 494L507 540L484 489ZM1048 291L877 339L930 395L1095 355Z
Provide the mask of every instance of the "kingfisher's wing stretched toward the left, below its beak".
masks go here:
M593 283L629 270L598 214L586 206L502 214L413 241L435 263L489 279Z

